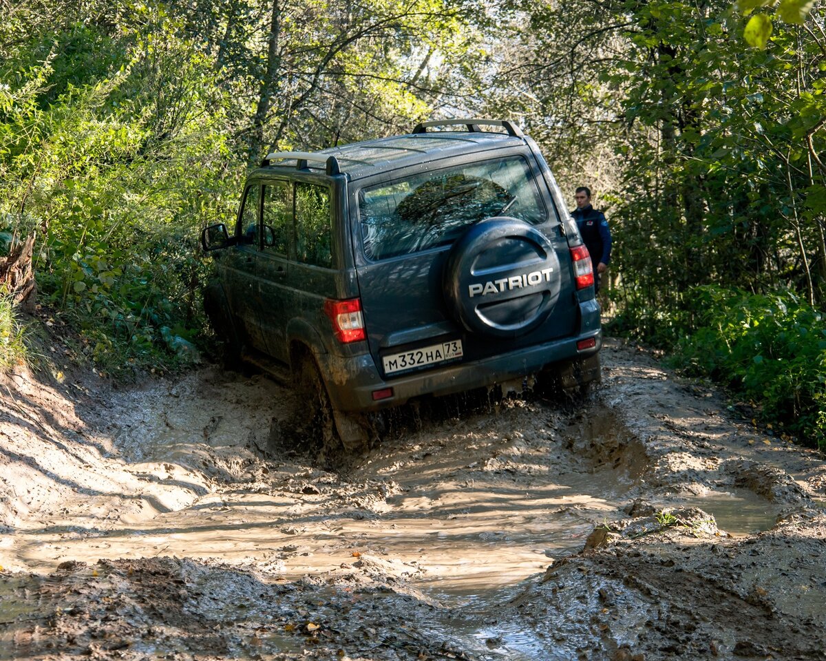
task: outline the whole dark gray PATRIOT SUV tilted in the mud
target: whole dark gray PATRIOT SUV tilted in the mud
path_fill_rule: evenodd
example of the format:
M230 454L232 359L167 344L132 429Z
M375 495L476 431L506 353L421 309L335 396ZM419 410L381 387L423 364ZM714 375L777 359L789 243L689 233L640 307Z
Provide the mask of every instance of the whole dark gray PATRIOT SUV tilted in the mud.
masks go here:
M510 121L270 154L235 227L202 245L230 356L292 372L313 426L348 449L371 439L371 411L414 397L600 377L591 259Z

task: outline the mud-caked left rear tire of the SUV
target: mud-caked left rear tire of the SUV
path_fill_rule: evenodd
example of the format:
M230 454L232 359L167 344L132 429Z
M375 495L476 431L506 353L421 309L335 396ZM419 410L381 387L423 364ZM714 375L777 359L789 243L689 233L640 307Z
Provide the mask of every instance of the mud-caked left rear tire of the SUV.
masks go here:
M343 447L354 454L368 449L370 437L363 416L332 407L315 360L309 356L301 359L295 379L299 405L309 411L308 435L322 449L335 451Z

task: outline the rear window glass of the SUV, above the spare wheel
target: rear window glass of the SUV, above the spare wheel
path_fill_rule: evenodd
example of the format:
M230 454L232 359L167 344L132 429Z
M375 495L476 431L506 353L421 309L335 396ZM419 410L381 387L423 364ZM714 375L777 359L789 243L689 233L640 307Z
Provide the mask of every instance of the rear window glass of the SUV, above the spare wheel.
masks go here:
M537 225L545 207L520 156L414 174L358 193L364 254L385 259L457 240L491 216Z

